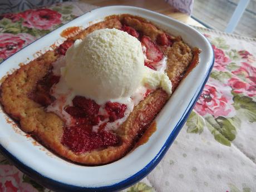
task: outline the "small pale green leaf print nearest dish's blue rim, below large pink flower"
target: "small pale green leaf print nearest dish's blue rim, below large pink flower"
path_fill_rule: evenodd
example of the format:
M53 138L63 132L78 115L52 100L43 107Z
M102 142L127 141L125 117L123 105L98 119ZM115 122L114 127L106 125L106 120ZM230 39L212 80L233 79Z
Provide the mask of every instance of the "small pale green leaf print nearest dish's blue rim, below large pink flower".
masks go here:
M188 129L186 132L194 133L194 134L201 134L204 130L204 119L200 115L198 115L195 111L192 111L188 121L186 121L186 126Z

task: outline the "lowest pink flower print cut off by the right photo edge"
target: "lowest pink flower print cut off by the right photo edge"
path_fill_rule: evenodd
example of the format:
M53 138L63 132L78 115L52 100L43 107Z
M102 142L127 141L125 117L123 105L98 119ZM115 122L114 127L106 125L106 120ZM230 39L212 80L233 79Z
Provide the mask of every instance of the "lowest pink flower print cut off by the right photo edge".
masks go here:
M240 81L238 78L230 78L230 80L228 81L228 85L233 88L233 91L235 93L244 93L245 95L248 95L250 97L256 95L255 85L250 85L249 83Z

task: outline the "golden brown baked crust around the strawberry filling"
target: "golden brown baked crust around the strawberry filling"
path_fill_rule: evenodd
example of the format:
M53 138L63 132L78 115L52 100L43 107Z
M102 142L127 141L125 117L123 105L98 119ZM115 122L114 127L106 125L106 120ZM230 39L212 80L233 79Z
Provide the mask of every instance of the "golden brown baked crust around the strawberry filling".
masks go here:
M149 36L153 41L157 40L157 36L165 33L143 18L122 14L107 17L105 21L93 24L69 40L84 38L97 29L120 29L122 24L135 28ZM170 36L170 38L173 40L172 46L159 47L168 57L166 73L173 83L174 91L188 66L193 62L195 52L180 37ZM169 99L168 94L157 89L134 108L124 124L115 131L121 140L119 145L78 154L61 144L65 123L60 117L52 112L46 112L44 106L29 99L29 94L35 90L37 82L47 75L52 68L51 63L55 62L58 57L60 54L56 50L48 51L8 75L1 85L0 101L4 111L19 122L23 131L31 134L43 145L69 160L86 165L102 165L120 159L132 149L139 139L139 135L143 134L150 126Z

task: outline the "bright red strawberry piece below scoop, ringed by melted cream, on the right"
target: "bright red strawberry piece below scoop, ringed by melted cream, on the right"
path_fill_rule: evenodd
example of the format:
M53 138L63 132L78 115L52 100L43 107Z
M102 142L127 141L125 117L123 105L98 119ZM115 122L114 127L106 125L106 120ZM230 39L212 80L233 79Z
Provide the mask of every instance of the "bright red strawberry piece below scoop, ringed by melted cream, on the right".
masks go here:
M109 114L109 121L113 122L124 117L126 108L127 106L125 104L120 104L119 102L107 102L105 109L107 114Z

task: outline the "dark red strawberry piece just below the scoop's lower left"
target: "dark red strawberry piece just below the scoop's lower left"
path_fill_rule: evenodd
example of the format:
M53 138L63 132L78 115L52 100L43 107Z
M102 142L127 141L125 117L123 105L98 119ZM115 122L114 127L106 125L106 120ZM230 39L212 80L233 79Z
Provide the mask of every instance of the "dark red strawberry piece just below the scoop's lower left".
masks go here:
M81 107L86 115L88 116L95 116L98 114L100 105L96 104L95 101L86 99L83 96L76 96L73 100L73 105L77 107Z

